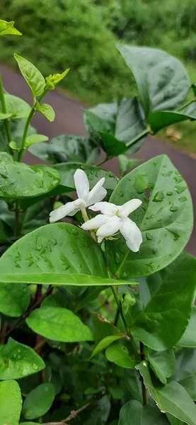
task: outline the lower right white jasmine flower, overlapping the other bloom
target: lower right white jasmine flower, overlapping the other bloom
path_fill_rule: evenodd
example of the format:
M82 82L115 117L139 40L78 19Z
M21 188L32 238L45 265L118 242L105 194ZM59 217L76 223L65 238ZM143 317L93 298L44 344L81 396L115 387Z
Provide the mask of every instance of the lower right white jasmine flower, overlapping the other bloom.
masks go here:
M125 237L128 248L137 252L142 244L142 233L128 216L131 212L137 210L141 204L142 200L139 199L129 200L123 205L108 202L95 203L90 209L100 211L102 214L98 214L83 223L81 227L84 230L98 229L96 231L98 243L102 242L105 237L111 237L119 231Z

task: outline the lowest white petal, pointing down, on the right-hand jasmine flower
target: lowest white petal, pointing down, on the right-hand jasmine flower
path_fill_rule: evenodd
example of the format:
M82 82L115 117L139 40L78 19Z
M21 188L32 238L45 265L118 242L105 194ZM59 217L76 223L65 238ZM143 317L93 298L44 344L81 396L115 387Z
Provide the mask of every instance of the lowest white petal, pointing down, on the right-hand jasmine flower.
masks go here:
M142 244L142 233L132 220L129 218L122 220L120 233L125 237L126 244L131 251L139 251L139 246Z

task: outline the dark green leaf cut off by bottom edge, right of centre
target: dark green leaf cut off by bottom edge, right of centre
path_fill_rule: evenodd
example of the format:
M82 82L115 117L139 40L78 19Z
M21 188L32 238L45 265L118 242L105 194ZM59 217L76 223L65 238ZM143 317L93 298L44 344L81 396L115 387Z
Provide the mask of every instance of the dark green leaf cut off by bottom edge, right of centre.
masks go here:
M156 407L142 406L137 400L130 400L120 409L118 425L167 425L166 416Z

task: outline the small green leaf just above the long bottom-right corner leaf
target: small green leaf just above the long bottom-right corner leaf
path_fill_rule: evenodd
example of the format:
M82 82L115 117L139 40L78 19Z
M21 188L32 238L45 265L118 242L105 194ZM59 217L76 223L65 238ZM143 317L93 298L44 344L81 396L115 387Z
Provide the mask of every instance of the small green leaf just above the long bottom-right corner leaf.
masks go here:
M155 375L163 384L166 384L167 378L170 378L173 375L175 368L175 354L174 351L154 351L150 348L147 351L147 357L151 365L152 370L154 370Z

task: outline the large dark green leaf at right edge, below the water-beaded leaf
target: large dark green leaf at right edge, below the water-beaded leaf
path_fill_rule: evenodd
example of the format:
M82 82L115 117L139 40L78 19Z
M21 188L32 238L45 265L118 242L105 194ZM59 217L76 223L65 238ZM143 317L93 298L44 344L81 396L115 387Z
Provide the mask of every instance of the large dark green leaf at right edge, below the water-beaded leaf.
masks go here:
M157 351L172 348L188 326L195 297L196 259L182 253L148 278L151 299L132 322L132 334Z

